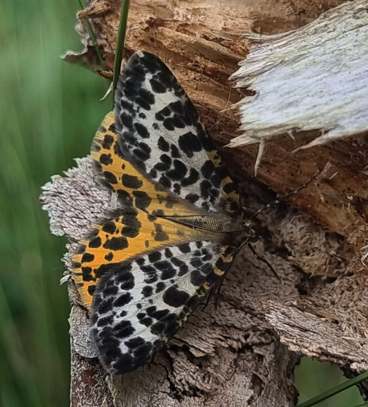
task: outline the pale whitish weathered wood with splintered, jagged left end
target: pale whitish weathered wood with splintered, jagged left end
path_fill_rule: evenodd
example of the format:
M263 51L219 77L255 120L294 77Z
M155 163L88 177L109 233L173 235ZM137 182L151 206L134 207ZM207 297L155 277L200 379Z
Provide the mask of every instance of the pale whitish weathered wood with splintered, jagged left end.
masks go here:
M229 147L320 130L305 149L367 131L367 10L366 0L356 0L299 30L245 35L255 44L230 79L255 95L239 102L243 134Z

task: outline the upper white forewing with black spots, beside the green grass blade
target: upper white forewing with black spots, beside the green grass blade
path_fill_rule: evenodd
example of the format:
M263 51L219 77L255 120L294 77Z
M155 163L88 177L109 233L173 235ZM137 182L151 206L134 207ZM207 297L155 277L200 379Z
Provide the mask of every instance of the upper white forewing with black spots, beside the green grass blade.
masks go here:
M209 212L240 213L236 186L198 112L167 66L136 52L115 93L118 143L161 188Z

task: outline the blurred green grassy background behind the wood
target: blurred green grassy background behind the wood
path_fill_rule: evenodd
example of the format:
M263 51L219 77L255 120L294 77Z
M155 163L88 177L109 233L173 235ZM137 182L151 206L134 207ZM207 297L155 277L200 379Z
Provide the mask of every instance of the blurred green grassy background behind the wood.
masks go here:
M0 405L69 405L69 303L60 261L65 238L50 234L40 187L74 165L111 98L108 82L60 61L80 50L77 0L0 0ZM339 369L304 359L301 399L343 380ZM358 404L355 393L324 407ZM336 399L338 399L336 401ZM339 402L340 401L340 402Z

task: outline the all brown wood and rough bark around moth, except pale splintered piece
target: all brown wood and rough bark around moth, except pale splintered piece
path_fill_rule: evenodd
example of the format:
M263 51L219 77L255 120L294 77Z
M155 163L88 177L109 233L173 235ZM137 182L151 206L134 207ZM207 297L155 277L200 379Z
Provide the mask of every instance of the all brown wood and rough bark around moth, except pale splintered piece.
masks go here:
M340 3L133 0L127 55L136 49L159 55L221 146L237 134L239 122L233 112L220 110L247 94L231 90L228 82L248 52L240 35L298 28ZM110 68L119 8L119 2L97 0L79 13L91 19ZM96 354L88 342L86 312L69 283L73 406L284 407L296 401L293 370L301 355L338 363L348 374L368 368L368 285L357 251L367 229L368 143L339 140L290 155L299 145L287 136L270 141L258 181L247 176L256 146L222 150L250 212L273 198L264 184L284 194L325 169L291 198L299 212L283 204L260 216L262 240L255 248L278 277L244 250L220 295L135 373L110 378L91 359ZM109 191L95 180L90 159L77 163L64 178L46 184L42 196L51 230L71 238L69 250L113 205ZM65 261L70 266L68 254Z

